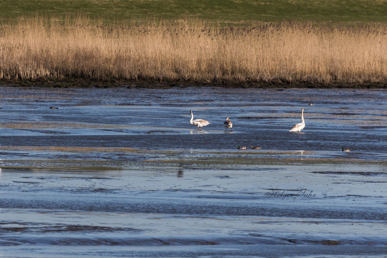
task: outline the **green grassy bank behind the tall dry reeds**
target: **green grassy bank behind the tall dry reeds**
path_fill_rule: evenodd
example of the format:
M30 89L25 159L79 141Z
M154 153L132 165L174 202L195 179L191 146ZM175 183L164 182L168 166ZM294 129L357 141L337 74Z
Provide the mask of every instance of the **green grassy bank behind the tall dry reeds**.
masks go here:
M138 20L155 16L176 20L196 17L207 21L387 22L387 2L382 0L2 0L0 20L39 14L88 14L107 21Z

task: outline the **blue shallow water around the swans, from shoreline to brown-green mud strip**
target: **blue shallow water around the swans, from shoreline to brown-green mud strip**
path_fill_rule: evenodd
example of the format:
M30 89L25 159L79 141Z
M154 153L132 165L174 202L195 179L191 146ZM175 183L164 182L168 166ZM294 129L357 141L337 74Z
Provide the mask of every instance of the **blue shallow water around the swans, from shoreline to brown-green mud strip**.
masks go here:
M314 103L314 106L308 106ZM387 91L2 88L2 145L387 151ZM49 109L56 106L58 109ZM303 133L288 133L301 121ZM202 132L189 124L211 122ZM233 132L224 132L226 117ZM48 128L41 128L50 122ZM58 122L59 125L53 123ZM37 124L34 124L37 123ZM12 137L9 137L12 136Z

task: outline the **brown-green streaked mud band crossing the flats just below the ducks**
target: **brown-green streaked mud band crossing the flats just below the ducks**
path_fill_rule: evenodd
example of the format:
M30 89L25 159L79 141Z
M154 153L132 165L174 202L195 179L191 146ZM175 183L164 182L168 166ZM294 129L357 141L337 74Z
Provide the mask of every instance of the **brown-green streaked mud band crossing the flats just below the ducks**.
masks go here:
M156 133L157 134L157 133ZM375 160L375 155L367 153L367 155L334 152L329 153L331 157L326 157L327 154L313 151L257 151L257 150L142 150L125 147L34 147L34 146L4 146L3 149L8 149L6 152L10 155L9 160L4 162L3 168L86 168L97 169L130 169L136 166L152 165L152 166L184 166L185 169L203 169L212 166L213 169L232 168L233 170L250 170L264 171L271 170L267 167L259 167L260 165L275 165L275 164L299 164L300 155L303 164L387 164L385 161ZM15 152L12 153L12 150ZM25 150L24 159L20 159L21 153ZM257 155L259 154L259 155ZM356 154L356 155L355 155ZM13 155L13 156L12 156ZM382 155L376 155L382 159ZM18 157L18 159L15 159ZM45 159L55 157L55 159ZM62 157L62 159L58 159ZM171 157L173 157L171 159ZM13 159L11 159L13 158ZM43 158L43 159L42 159ZM369 161L370 159L370 161ZM371 160L373 159L373 160ZM62 163L62 164L61 164ZM71 163L71 164L70 164ZM94 164L93 164L94 163ZM100 164L98 166L97 164ZM97 165L97 166L96 166ZM88 167L89 166L89 167ZM281 168L279 168L281 169Z

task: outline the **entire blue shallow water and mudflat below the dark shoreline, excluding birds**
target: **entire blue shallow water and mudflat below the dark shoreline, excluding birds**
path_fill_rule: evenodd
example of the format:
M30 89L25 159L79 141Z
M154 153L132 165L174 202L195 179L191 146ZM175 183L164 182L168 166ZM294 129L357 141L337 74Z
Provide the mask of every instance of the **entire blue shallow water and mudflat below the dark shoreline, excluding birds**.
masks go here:
M1 90L0 256L387 253L387 91Z

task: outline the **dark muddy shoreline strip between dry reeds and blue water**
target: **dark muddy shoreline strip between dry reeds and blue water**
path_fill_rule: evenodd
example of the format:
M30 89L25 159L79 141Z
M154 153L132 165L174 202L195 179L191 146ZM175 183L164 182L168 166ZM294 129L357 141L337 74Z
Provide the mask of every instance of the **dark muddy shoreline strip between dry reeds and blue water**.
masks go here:
M155 81L155 80L96 80L96 79L45 79L45 80L0 80L0 87L21 88L118 88L128 89L172 89L185 87L224 87L224 88L277 88L277 89L387 89L387 82L348 82L348 83L310 83L310 82L194 82L194 81Z

